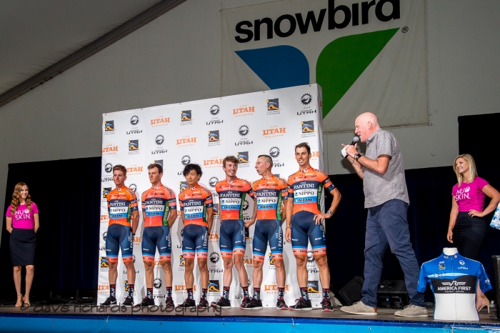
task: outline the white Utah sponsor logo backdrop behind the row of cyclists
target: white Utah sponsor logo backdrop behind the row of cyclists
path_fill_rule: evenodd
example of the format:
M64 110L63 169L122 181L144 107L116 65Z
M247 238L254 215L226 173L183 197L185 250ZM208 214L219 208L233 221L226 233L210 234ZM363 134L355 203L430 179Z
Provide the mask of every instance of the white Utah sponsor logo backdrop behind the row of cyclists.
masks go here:
M176 192L186 186L181 172L189 163L201 165L203 175L200 183L211 189L214 206L218 203L215 184L224 179L222 159L228 155L239 161L238 177L250 182L259 179L254 169L257 156L269 154L273 157L272 172L287 179L298 169L294 159L294 146L309 142L312 151L311 165L323 167L321 129L321 87L316 84L296 86L251 94L204 99L181 104L154 106L146 109L120 111L103 115L102 126L102 204L101 243L99 245L99 290L98 303L109 296L109 279L106 259L106 230L109 217L106 207L106 193L114 188L112 168L122 164L127 168L126 186L134 189L140 200L142 192L151 187L148 178L148 164L159 163L164 167L162 183ZM211 138L211 139L209 139ZM215 138L215 139L214 139ZM141 204L139 204L139 208ZM178 204L179 208L179 204ZM253 201L246 199L244 218L250 219ZM141 253L142 214L139 229L134 239L134 265L136 269L135 302L141 302L146 292L144 264ZM181 250L181 219L171 229L172 271L174 273L173 298L176 304L186 298L184 284L184 259ZM222 290L224 265L219 252L219 215L214 217L214 226L209 237L209 302L219 299ZM251 279L253 273L251 242L254 226L247 231L245 267ZM270 260L269 247L264 263L264 279L261 297L266 307L274 307L278 293L274 263ZM164 273L156 253L154 298L156 304L164 304ZM291 244L284 244L286 265L287 304L294 304L300 297L296 281L296 264ZM124 300L128 288L126 269L119 259L119 275L116 283L116 297ZM320 306L321 284L319 272L309 252L309 291L315 307ZM194 297L200 297L201 285L195 267ZM234 307L241 304L243 297L236 268L233 272L230 300Z

